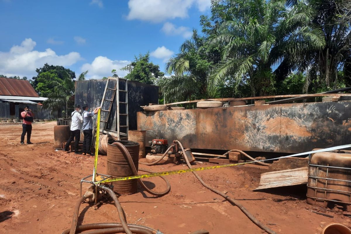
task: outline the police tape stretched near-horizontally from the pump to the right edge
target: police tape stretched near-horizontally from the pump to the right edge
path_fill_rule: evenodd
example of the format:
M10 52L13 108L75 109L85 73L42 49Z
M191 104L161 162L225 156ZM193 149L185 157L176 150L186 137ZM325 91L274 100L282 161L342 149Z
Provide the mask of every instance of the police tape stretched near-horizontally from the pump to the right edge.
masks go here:
M222 167L232 167L232 166L244 165L244 164L248 164L248 163L263 162L263 161L267 161L267 160L276 160L276 159L282 159L282 158L288 158L288 157L295 157L295 156L301 156L301 155L312 154L312 153L319 153L319 152L326 152L326 151L332 151L332 150L337 150L337 149L344 149L344 148L349 148L349 147L351 147L351 144L342 145L342 146L335 146L335 147L330 147L330 148L325 148L325 149L318 149L315 151L298 153L298 154L293 154L293 155L288 155L288 156L282 156L282 157L278 157L278 158L274 158L274 159L264 159L264 160L258 160L258 161L252 161L252 162L241 162L241 163L227 164L227 165L221 165L221 166L198 167L198 168L192 168L192 169L180 169L180 170L176 170L176 171L156 172L156 173L143 174L143 175L133 175L133 176L126 176L126 177L121 177L121 178L101 180L101 181L97 181L94 183L95 184L109 183L109 182L121 181L121 180L143 179L143 178L150 178L150 177L155 177L155 176L174 175L174 174L203 171L203 170L222 168Z

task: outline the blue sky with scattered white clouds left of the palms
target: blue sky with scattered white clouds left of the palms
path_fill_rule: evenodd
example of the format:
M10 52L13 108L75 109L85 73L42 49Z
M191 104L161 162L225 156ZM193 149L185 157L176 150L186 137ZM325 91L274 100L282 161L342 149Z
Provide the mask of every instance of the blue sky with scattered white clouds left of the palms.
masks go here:
M47 62L99 79L124 76L119 68L148 51L164 71L210 0L0 0L0 9L0 74L32 78Z

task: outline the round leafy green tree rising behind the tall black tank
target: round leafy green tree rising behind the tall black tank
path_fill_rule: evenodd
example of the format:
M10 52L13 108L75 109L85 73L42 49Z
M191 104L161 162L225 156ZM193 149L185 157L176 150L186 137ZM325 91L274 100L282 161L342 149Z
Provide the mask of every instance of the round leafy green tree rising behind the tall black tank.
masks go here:
M160 66L150 62L150 55L140 54L138 57L135 56L135 60L121 68L122 71L128 71L129 73L124 77L127 80L138 81L153 85L155 80L161 78L164 73L160 71Z

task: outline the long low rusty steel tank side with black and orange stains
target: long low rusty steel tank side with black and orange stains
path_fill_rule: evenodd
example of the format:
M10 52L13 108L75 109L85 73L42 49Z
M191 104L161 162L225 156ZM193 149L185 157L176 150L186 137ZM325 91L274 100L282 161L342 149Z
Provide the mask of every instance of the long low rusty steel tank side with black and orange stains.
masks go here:
M349 144L350 116L350 101L186 109L138 112L138 129L188 148L301 153Z

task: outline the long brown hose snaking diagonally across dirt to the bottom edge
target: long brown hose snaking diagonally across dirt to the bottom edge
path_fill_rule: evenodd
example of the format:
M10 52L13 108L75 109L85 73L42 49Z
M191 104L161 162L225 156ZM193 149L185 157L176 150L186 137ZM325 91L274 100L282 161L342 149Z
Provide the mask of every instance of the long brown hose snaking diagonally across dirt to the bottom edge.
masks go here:
M183 155L185 155L185 151L183 148L183 145L181 145L181 143L178 140L175 140L174 143L178 143L178 145L181 148L181 151L183 152ZM186 164L188 165L189 168L192 168L192 166L190 165L189 160L187 159L187 157L184 157ZM217 193L218 195L223 196L223 198L225 198L226 200L228 200L230 203L232 203L233 205L237 206L254 224L256 224L258 227L260 227L261 229L265 230L267 233L269 234L276 234L273 230L271 230L270 228L266 227L263 223L261 223L260 221L258 221L252 214L250 214L250 212L243 206L241 205L240 202L238 202L237 200L234 200L232 198L230 198L228 195L225 195L224 193L208 186L202 179L201 177L196 173L196 172L192 172L196 178L200 181L200 183L205 186L206 188L210 189L212 192Z

